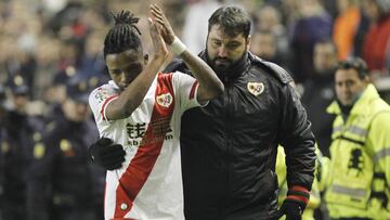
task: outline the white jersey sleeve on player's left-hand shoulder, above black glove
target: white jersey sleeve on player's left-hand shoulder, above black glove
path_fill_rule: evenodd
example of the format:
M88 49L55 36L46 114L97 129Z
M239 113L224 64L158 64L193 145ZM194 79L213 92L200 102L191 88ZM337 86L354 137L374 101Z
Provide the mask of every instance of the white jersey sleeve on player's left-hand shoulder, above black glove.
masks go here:
M93 116L95 118L98 128L103 125L109 125L109 121L106 117L106 107L107 105L118 98L118 93L110 89L109 87L102 86L92 91L89 96L89 105L92 109Z

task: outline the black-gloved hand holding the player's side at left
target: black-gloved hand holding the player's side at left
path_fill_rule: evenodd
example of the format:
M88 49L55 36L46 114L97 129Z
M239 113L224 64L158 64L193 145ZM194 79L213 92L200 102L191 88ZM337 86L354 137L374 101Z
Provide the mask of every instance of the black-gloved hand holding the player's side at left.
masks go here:
M101 138L89 148L90 156L94 163L102 166L106 170L119 169L125 161L126 152L120 144L116 144L113 140Z

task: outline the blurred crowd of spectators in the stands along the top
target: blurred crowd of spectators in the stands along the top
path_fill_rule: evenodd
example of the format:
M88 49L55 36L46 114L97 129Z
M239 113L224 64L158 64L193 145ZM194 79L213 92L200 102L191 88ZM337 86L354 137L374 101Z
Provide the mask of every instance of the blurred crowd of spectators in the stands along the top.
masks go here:
M55 75L104 75L102 41L112 22L109 13L130 9L141 17L140 28L146 29L150 2L0 1L0 82L6 87L20 75L31 88L32 100L48 102L46 93ZM252 14L252 38L258 41L253 52L288 68L297 82L313 75L313 48L324 39L335 42L338 59L359 55L376 77L389 74L390 3L386 0L169 0L161 4L194 52L204 47L207 13L221 4L237 4ZM150 50L148 36L142 40Z

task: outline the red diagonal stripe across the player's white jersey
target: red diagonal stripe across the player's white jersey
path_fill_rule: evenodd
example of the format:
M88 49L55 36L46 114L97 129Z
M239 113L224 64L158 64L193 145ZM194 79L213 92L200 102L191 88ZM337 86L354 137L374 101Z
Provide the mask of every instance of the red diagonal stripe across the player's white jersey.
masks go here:
M173 94L172 74L159 74L157 77L157 88L155 99L157 95L171 93ZM147 127L144 138L136 151L134 158L131 160L129 167L119 179L119 185L116 191L116 205L115 205L115 218L123 218L128 213L133 205L138 193L145 184L147 177L152 172L152 169L160 153L164 138L169 128L169 121L171 120L174 108L174 100L169 107L164 107L157 104L153 107L151 124ZM154 133L152 121L167 119L165 131L159 132L158 135ZM122 210L121 204L126 204L127 208Z

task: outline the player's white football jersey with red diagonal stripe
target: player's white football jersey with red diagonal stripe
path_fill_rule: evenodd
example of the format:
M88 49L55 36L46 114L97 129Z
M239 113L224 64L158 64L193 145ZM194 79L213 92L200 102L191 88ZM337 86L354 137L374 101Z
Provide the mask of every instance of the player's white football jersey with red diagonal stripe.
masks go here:
M119 95L114 81L90 94L100 137L126 151L122 168L107 171L105 219L184 219L180 159L180 121L199 106L195 78L176 72L158 74L130 117L109 120L106 106Z

